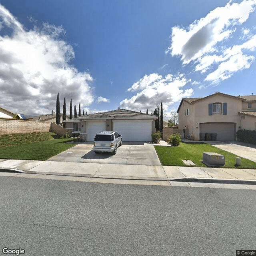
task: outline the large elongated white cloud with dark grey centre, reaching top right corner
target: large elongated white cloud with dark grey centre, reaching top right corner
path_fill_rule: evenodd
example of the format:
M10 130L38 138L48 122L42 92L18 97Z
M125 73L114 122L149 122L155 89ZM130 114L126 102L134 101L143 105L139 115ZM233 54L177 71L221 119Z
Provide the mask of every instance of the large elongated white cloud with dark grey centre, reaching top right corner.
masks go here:
M218 7L200 20L195 20L188 29L172 28L172 45L166 52L181 56L183 64L200 59L212 52L218 42L230 37L237 24L245 22L255 9L256 0L244 0L240 4L231 1Z

